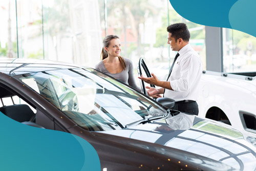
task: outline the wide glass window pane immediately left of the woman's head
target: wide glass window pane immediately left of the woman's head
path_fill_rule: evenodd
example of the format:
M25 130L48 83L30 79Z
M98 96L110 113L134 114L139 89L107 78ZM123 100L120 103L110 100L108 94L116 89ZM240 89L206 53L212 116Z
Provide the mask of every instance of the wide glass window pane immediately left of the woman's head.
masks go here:
M100 59L98 1L42 1L45 59L94 67Z

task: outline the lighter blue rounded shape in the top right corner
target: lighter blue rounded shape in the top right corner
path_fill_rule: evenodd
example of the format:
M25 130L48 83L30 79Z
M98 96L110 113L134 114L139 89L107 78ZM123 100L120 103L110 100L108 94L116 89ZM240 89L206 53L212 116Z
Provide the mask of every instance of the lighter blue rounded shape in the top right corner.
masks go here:
M256 37L255 7L255 0L239 0L235 3L229 11L231 28Z

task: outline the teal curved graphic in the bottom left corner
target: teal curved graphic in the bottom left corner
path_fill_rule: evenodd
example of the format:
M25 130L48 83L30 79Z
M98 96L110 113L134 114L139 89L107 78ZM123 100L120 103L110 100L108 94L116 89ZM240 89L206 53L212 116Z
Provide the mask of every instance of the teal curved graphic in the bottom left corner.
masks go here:
M0 112L0 170L100 170L86 140L16 122Z

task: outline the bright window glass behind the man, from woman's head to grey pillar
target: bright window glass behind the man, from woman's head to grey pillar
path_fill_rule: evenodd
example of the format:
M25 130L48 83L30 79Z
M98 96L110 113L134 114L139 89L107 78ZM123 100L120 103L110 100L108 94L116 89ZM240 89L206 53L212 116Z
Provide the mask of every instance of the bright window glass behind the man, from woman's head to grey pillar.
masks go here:
M104 2L106 13L103 10ZM176 52L169 50L166 28L168 23L178 22L187 24L191 34L190 44L202 57L204 67L206 66L205 26L181 17L169 1L99 0L99 3L102 7L100 13L102 38L106 34L118 35L122 44L121 55L130 58L134 66L137 66L139 58L143 57L151 72L161 80L166 79L176 55ZM136 67L134 72L137 75ZM136 81L139 84L139 80Z

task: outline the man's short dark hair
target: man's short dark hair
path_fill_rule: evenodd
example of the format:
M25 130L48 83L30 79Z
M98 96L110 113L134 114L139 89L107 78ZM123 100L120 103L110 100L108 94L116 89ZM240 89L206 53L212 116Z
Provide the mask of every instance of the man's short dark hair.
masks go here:
M167 27L167 32L172 33L172 37L177 42L178 38L182 38L184 41L189 41L190 33L185 23L176 23Z

